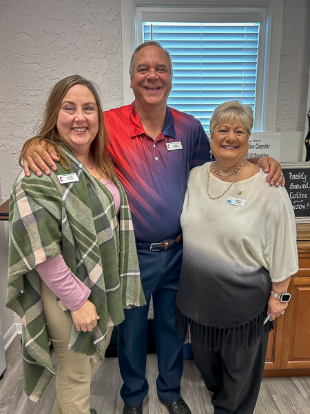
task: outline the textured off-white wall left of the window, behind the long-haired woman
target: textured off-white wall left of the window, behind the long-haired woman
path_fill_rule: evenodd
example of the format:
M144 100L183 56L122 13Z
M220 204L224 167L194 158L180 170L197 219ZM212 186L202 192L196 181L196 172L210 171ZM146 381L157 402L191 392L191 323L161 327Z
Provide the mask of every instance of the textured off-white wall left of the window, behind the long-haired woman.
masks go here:
M0 179L9 196L25 139L50 88L68 75L96 82L104 108L123 102L121 0L1 0Z

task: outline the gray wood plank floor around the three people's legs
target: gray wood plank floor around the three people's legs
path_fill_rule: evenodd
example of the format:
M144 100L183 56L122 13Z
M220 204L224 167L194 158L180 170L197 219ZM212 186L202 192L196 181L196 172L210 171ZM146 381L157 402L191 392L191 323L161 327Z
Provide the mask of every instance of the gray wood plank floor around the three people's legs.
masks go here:
M23 393L20 337L6 351L7 369L0 381L0 414L50 414L55 396L54 381L41 400L33 404ZM156 396L156 355L147 357L149 395L143 404L144 414L167 414ZM121 375L116 358L107 358L92 384L91 406L98 414L121 414L119 395ZM185 361L182 395L192 414L211 414L209 393L193 360ZM310 414L310 377L265 378L254 414Z

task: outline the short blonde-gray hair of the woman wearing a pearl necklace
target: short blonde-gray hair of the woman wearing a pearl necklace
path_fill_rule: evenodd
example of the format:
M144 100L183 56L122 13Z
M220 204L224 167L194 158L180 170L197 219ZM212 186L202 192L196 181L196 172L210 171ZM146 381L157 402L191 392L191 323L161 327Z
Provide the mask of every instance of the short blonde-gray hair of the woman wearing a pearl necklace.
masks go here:
M237 121L247 130L248 137L254 124L253 110L251 106L245 105L240 101L227 101L217 106L213 112L210 121L210 136L212 137L214 129L218 124L225 122L231 123Z

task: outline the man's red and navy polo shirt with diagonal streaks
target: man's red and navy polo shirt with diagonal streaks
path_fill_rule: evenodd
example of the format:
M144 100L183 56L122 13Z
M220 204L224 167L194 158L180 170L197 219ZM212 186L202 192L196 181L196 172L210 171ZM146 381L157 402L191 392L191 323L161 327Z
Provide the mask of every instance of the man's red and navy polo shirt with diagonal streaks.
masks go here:
M154 141L131 105L104 112L109 150L132 211L138 242L160 242L180 233L189 171L209 161L210 145L198 119L167 106ZM171 148L174 143L174 148ZM206 177L207 179L207 177ZM205 190L206 183L201 183Z

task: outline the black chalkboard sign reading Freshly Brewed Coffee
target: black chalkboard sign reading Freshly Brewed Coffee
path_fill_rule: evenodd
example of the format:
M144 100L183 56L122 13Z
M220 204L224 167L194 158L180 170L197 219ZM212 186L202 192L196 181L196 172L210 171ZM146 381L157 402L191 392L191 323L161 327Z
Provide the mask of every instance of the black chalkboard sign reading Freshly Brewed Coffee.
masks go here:
M310 162L281 164L285 188L298 223L310 222Z

